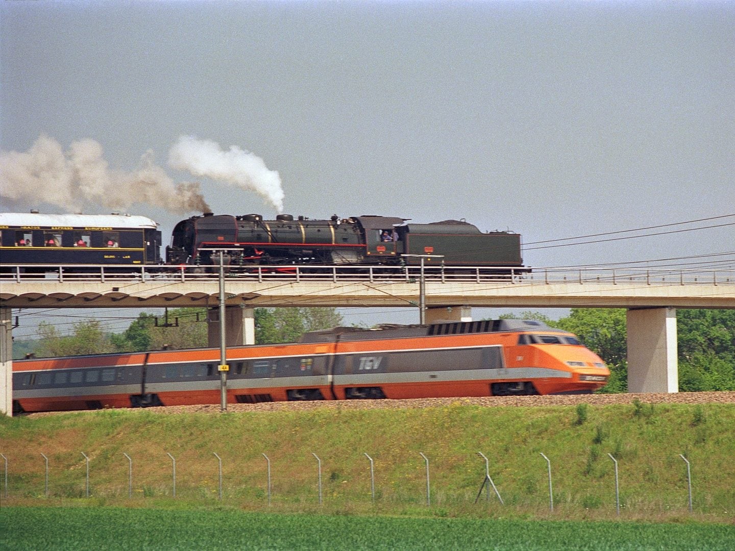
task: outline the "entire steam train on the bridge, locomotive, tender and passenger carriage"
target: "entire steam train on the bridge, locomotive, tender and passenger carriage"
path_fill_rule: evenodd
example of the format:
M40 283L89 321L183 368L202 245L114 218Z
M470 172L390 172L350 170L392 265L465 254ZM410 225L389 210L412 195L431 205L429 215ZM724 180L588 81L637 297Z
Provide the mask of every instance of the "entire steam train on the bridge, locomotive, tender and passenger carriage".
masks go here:
M520 235L481 232L464 220L428 224L384 216L311 220L277 215L213 215L182 220L171 245L160 253L157 223L129 215L45 215L0 213L0 263L19 264L192 264L218 263L226 251L231 270L257 265L337 264L399 266L420 264L514 269L523 272ZM437 258L432 259L431 256ZM431 265L431 264L430 264Z

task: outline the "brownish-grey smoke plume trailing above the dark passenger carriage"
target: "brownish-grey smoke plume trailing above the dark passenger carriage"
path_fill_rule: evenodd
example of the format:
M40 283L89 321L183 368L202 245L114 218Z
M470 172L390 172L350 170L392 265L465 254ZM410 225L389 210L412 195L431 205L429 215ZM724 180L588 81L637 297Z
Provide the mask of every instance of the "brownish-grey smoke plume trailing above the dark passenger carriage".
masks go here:
M25 153L0 152L0 195L31 204L48 203L79 212L91 205L125 209L147 203L176 214L206 212L197 183L174 183L146 152L131 173L110 170L95 140L73 142L63 151L41 135Z

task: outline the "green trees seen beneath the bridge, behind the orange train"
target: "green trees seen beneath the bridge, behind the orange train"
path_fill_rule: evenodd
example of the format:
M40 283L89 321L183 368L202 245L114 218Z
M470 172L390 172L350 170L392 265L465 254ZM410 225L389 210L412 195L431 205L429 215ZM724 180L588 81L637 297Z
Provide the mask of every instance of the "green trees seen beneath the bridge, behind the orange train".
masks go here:
M612 372L601 392L627 391L625 309L572 309L561 320L534 311L514 317L542 320L578 335ZM677 318L679 389L735 390L735 310L681 309ZM165 322L173 326L163 327ZM334 308L258 308L255 339L257 344L293 342L306 331L342 323L341 314ZM166 318L142 313L121 334L107 333L98 321L77 323L69 336L60 334L50 323L40 323L38 337L33 341L35 345L15 342L14 357L22 358L25 353L49 357L206 347L207 311L174 309Z

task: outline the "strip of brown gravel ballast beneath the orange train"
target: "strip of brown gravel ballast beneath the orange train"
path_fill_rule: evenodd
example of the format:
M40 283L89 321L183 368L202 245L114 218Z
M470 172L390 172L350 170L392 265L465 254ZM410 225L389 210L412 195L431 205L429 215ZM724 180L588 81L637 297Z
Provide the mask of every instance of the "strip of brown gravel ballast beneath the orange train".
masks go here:
M450 405L467 406L576 406L578 403L606 405L614 403L735 403L735 392L679 392L676 394L609 394L609 395L557 395L557 396L503 396L476 398L423 398L415 400L325 400L323 402L272 402L259 404L230 403L226 413L241 411L303 411L318 408L332 409L401 409L436 408ZM151 413L223 413L219 404L198 406L166 406L158 408L132 409ZM54 412L55 413L55 412ZM29 417L54 413L29 414Z

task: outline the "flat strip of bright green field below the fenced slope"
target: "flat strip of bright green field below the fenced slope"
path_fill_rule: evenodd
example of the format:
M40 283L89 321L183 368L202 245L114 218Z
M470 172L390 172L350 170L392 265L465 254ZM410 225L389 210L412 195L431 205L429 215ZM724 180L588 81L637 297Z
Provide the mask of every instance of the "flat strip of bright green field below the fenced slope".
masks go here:
M137 508L0 510L4 550L730 550L735 527Z

